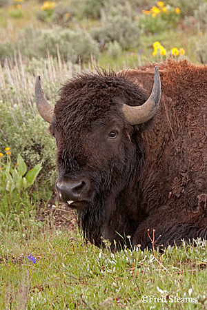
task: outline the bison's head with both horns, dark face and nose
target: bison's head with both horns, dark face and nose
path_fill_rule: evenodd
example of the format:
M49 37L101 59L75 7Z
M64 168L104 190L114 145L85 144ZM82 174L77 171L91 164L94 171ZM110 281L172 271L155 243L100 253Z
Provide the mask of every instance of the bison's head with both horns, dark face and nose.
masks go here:
M157 67L148 99L124 74L97 72L81 74L63 85L53 108L37 77L35 99L57 141L56 187L64 202L86 210L124 190L144 153L133 125L155 115L160 95Z

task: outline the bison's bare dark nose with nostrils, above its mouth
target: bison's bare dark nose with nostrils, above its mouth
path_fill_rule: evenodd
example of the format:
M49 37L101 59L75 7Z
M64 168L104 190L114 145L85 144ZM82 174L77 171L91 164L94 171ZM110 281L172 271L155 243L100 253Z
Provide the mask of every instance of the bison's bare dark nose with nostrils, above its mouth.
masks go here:
M66 182L57 180L56 188L60 198L66 203L68 201L77 202L80 201L80 193L85 183L80 182Z

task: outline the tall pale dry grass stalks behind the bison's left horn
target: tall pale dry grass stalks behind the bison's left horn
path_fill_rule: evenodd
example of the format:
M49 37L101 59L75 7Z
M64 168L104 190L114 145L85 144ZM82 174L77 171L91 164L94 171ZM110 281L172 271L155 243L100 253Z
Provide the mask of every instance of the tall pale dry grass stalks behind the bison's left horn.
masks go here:
M95 65L97 64L92 59L92 63L87 66L93 71ZM37 75L41 76L43 90L54 104L59 87L67 79L88 68L81 63L63 61L59 52L58 59L54 59L48 52L46 59L32 61L23 61L20 53L14 54L13 61L6 59L3 67L0 63L0 100L12 103L11 108L18 104L22 116L25 111L35 115L37 112L34 105L34 84Z

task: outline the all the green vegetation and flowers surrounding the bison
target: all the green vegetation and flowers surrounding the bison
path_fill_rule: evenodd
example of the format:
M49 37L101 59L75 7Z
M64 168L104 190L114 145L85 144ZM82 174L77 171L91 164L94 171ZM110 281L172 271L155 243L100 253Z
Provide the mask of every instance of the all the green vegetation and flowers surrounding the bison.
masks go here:
M75 225L56 229L52 214L37 220L57 172L34 103L37 75L55 105L61 85L95 65L206 64L206 25L204 0L0 0L0 309L206 309L206 241L114 254L106 240L105 249L83 242Z

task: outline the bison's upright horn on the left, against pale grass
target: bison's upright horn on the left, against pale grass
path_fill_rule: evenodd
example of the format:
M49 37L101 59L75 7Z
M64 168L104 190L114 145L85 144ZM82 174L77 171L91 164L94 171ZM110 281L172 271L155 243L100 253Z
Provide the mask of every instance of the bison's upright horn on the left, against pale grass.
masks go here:
M35 101L37 103L37 110L41 117L48 123L52 123L54 107L48 103L46 97L41 89L40 76L37 76L35 83Z

